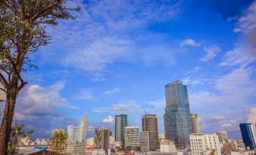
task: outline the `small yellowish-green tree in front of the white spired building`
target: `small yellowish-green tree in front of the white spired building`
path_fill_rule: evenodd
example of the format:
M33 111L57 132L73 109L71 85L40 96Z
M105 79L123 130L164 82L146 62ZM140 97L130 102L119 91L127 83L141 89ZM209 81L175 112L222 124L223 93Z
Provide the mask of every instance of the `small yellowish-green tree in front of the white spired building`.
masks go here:
M54 152L63 153L66 149L66 144L68 142L67 132L63 132L62 130L55 131L50 138L49 147L50 150Z

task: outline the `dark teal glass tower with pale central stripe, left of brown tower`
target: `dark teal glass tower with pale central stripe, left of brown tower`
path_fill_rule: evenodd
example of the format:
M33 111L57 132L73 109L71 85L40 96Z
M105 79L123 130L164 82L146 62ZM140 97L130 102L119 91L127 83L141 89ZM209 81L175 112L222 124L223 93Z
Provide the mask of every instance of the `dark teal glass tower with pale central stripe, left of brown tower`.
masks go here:
M115 140L122 141L125 145L125 127L127 126L127 115L120 114L115 117Z

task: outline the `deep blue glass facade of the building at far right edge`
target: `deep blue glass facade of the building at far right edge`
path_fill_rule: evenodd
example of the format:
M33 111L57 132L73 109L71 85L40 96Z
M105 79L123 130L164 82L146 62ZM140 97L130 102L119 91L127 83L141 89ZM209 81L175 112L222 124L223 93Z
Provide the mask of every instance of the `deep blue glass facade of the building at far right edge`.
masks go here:
M242 134L242 141L244 141L245 147L250 147L251 150L254 150L251 123L240 123L239 126Z

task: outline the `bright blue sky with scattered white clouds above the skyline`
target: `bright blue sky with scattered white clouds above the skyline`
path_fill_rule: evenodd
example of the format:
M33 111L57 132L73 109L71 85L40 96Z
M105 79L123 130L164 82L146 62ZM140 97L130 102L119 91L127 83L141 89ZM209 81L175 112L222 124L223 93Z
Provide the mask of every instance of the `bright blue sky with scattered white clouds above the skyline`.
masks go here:
M256 123L256 28L253 1L74 1L76 20L48 26L51 44L31 56L39 69L23 73L14 120L47 138L51 129L89 130L128 114L141 126L157 114L164 132L165 84L187 84L190 111L202 132L240 138L239 123ZM91 135L91 132L90 132Z

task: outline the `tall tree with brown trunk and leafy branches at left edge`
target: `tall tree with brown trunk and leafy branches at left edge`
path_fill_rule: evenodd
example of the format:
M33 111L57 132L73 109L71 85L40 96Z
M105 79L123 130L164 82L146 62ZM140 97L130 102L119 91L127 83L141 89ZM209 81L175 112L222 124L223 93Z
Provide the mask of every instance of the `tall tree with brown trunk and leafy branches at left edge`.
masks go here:
M16 99L26 86L22 72L35 68L32 53L50 41L47 25L58 20L74 19L67 0L1 0L0 1L0 82L6 93L5 110L0 131L0 154L6 154L11 134ZM69 0L72 1L72 0Z

